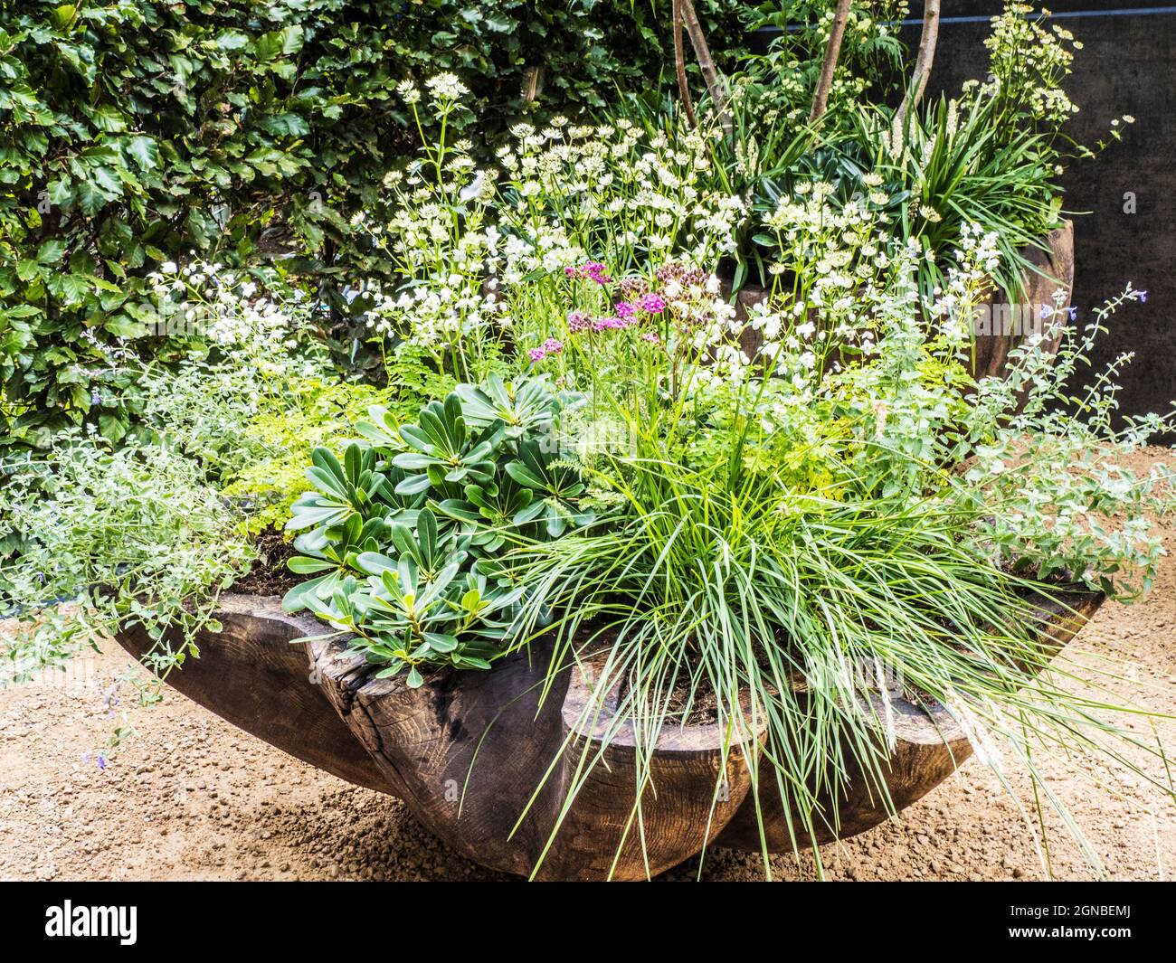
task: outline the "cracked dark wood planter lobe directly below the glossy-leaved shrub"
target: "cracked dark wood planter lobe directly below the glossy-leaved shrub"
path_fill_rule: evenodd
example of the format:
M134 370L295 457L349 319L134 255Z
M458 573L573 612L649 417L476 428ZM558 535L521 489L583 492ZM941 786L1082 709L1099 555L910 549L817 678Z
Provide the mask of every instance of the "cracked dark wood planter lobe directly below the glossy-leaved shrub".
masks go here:
M523 816L563 738L567 678L540 703L547 648L490 671L440 671L417 689L403 675L375 678L343 642L308 648L332 704L413 814L463 856L529 874L562 789L549 778Z

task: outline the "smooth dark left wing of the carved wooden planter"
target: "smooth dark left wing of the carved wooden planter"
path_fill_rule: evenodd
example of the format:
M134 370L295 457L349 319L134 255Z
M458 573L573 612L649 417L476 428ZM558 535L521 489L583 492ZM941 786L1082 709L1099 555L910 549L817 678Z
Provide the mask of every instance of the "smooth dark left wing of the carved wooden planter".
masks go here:
M290 640L329 630L308 615L282 611L278 596L222 595L219 634L203 633L200 658L173 669L167 682L193 702L295 758L387 791L372 757L310 677L303 646ZM142 626L115 636L135 658L152 647Z

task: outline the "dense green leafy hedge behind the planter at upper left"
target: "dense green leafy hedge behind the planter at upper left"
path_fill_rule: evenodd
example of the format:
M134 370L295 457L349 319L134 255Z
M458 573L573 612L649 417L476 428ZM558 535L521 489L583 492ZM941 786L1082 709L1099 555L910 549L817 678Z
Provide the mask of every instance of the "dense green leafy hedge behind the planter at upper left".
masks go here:
M731 49L739 5L699 6ZM87 417L122 436L119 339L185 348L147 336L159 262L369 267L346 228L412 147L406 76L460 74L489 143L521 111L669 79L668 15L668 0L0 0L0 452Z

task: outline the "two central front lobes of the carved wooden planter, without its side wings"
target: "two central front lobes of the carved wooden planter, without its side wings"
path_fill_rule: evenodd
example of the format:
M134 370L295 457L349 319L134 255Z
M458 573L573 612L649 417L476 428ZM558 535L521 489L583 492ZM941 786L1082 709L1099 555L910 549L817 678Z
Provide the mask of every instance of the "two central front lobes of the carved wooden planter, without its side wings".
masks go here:
M573 670L541 703L550 657L543 644L529 660L520 653L488 673L437 673L415 690L403 676L374 678L342 642L309 648L325 690L393 791L446 843L494 869L541 880L604 880L610 871L614 880L646 878L647 861L648 875L656 875L709 843L750 788L735 745L717 794L723 798L708 818L724 733L667 727L642 798L642 832L632 823L635 734L626 727L601 742L615 694L590 734L577 727L593 700L595 663ZM586 777L547 849L582 763Z

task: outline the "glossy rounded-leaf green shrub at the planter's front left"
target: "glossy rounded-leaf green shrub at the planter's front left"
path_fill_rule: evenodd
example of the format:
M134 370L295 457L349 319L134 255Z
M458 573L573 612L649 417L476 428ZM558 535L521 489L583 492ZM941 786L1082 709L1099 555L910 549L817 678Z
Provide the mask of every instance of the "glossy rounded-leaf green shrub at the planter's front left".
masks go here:
M340 461L316 448L313 490L286 528L302 531L290 570L315 577L290 589L290 611L309 609L350 631L380 675L453 666L488 669L520 640L528 586L502 553L544 544L592 522L579 470L560 457L561 414L582 396L546 375L459 384L399 424L373 407Z

